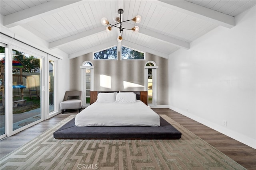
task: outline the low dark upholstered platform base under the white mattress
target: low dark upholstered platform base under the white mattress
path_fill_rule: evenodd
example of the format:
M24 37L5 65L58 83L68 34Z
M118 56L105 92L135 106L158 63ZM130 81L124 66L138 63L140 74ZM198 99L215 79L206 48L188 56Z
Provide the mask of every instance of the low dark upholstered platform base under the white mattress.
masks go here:
M77 127L75 118L53 133L55 139L180 139L181 133L160 117L159 127Z

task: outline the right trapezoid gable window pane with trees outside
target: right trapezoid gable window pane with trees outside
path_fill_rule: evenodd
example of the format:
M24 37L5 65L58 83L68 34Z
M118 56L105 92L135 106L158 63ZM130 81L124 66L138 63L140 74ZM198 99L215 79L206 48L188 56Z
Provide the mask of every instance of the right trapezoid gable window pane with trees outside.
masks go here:
M144 53L122 46L122 59L123 60L143 60Z

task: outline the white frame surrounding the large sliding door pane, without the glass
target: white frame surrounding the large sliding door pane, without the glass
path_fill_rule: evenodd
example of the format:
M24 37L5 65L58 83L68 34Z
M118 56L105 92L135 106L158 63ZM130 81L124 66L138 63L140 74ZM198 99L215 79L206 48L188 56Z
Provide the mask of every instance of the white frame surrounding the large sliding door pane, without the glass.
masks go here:
M47 103L48 99L46 99L46 95L44 93L45 91L45 84L46 84L46 58L47 54L38 51L37 49L34 49L33 47L30 47L28 45L25 45L24 43L15 41L9 37L5 37L1 35L1 44L6 44L6 55L5 55L5 108L6 108L6 134L1 135L3 137L8 137L11 135L14 135L20 131L23 131L24 129L27 129L28 127L31 127L41 121L43 121L46 118L46 114L48 113L45 110L45 104ZM12 49L22 51L23 53L27 53L30 55L33 55L34 57L40 59L40 72L41 72L41 84L40 84L40 91L41 91L41 101L40 101L40 108L41 108L41 118L39 120L36 120L32 123L29 123L28 125L25 125L23 127L20 127L13 131L13 106L12 106ZM48 60L47 60L48 61Z

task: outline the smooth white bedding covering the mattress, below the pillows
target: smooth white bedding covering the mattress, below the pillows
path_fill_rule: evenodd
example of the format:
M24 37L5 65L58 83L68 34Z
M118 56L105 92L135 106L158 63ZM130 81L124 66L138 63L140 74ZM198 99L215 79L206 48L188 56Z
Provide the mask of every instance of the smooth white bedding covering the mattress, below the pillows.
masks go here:
M76 126L160 126L159 115L140 100L95 102L75 118Z

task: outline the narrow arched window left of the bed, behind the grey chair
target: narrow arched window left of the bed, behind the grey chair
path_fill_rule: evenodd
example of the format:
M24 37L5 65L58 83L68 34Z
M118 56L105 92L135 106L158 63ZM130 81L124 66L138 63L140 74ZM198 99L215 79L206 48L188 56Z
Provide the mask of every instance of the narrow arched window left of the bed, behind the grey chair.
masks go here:
M83 106L88 106L90 104L90 91L94 90L94 65L90 61L84 61L80 68L82 68Z

